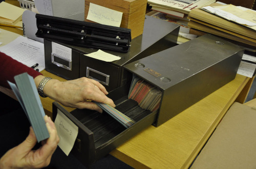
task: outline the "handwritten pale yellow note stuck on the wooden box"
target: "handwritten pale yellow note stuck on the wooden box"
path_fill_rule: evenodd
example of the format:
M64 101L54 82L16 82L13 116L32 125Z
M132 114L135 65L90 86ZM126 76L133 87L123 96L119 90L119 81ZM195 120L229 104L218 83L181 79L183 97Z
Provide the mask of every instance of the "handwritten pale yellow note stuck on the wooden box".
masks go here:
M105 25L120 27L122 12L90 3L87 19Z

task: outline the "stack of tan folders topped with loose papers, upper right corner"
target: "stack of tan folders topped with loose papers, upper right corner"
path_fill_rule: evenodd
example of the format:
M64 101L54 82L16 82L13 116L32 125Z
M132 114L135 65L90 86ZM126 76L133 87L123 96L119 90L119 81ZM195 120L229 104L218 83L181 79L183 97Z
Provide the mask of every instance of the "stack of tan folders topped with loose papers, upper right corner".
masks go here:
M199 34L210 33L220 36L232 43L244 46L248 49L256 49L256 11L237 7L233 5L222 5L218 3L211 4L206 9L213 9L225 13L228 18L220 16L218 13L211 13L203 9L193 9L188 15L188 26L190 27L190 33ZM218 15L216 15L216 13ZM232 17L231 17L232 16ZM246 20L244 23L238 23L236 20L230 19L233 17L239 17L236 20ZM251 25L248 22L251 23ZM253 26L254 22L254 26ZM194 30L194 31L193 31Z

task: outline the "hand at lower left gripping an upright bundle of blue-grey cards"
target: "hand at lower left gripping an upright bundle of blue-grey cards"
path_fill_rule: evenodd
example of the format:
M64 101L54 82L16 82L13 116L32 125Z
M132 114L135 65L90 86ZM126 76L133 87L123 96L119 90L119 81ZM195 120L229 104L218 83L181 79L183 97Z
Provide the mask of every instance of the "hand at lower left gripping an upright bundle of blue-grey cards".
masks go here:
M59 137L53 121L48 116L45 116L45 122L50 137L42 141L42 146L37 150L32 150L37 140L30 127L29 135L24 142L10 149L0 159L0 168L41 168L49 165L52 154L57 148Z

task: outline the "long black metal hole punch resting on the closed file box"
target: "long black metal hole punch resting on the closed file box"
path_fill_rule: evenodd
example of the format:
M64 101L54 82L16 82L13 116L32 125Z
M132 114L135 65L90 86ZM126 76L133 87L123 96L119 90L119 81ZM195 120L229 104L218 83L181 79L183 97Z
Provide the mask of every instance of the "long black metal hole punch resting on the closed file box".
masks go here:
M39 38L82 47L127 52L131 30L122 27L36 14Z

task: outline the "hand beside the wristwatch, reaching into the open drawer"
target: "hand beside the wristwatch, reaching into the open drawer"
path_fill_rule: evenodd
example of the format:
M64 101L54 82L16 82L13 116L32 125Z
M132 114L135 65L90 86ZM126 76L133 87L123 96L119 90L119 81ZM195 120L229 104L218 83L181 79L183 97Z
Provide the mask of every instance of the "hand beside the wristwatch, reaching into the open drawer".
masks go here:
M88 108L102 112L100 107L88 100L115 107L113 100L106 96L108 94L106 89L98 81L86 77L63 82L51 79L45 85L44 94L69 107Z

